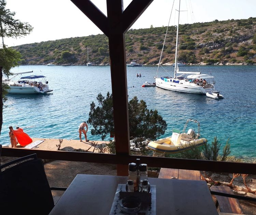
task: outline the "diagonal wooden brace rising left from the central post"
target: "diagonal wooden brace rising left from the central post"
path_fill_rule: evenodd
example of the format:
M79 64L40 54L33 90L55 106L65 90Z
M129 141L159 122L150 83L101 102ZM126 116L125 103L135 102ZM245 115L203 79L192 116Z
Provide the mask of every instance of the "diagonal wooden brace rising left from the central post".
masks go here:
M90 0L71 1L108 37L108 18ZM83 26L86 28L85 24Z

